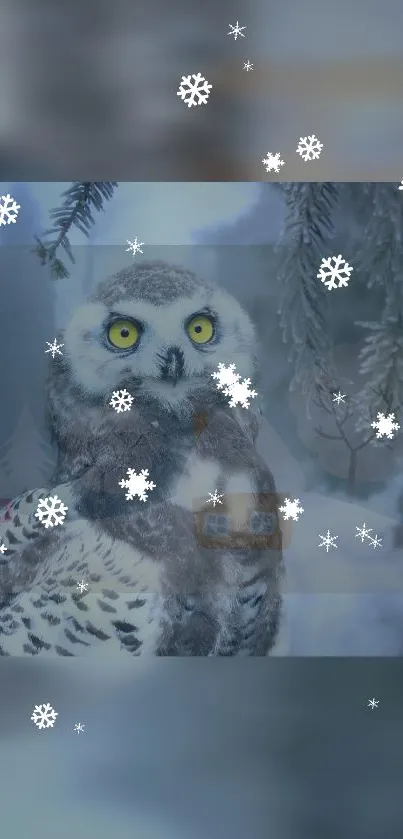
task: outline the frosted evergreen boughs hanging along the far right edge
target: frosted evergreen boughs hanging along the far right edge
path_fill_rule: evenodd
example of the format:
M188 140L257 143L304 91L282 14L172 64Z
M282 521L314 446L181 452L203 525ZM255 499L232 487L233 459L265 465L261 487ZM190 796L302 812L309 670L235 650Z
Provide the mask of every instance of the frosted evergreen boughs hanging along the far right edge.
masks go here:
M359 427L378 411L393 413L403 404L403 201L394 184L372 186L360 259L369 287L382 286L385 298L379 322L357 322L369 332L360 353L366 381L356 397Z

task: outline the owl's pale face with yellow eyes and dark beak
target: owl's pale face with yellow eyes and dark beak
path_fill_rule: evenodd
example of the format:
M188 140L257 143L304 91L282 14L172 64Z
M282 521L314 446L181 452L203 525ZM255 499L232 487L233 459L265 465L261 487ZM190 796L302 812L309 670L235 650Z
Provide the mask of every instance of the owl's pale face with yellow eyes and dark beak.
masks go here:
M234 298L196 281L182 283L175 295L169 272L166 295L161 272L155 281L158 293L152 270L147 290L144 283L137 288L132 269L130 284L122 289L117 282L113 294L112 279L107 293L74 313L64 333L64 356L81 392L99 399L125 387L137 400L175 406L195 391L218 398L211 373L219 363L253 376L254 329Z

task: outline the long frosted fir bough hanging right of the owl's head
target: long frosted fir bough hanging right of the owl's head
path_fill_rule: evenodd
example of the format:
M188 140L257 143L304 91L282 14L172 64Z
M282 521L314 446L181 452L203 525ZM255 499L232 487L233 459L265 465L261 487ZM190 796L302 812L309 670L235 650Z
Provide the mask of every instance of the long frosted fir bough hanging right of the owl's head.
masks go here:
M280 242L282 299L279 314L283 340L291 344L294 364L291 390L298 387L307 410L318 388L333 386L327 292L317 279L319 265L330 255L337 186L331 183L286 183L285 229Z

